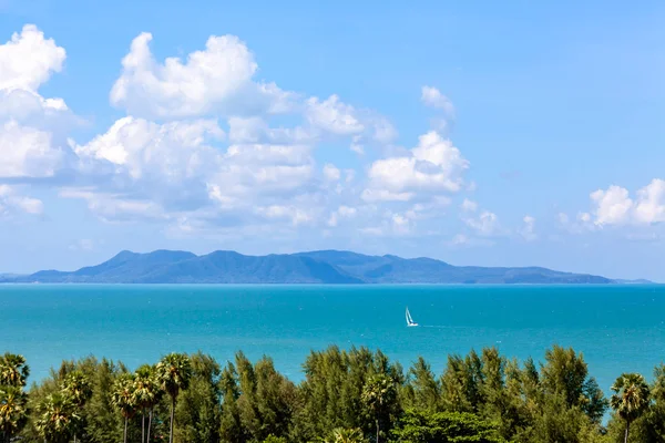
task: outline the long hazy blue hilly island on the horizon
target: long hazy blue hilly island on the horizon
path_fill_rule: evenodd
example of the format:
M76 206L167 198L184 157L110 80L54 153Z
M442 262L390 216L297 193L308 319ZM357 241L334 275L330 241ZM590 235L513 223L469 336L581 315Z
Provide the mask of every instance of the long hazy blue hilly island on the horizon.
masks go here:
M217 250L197 256L180 250L124 250L101 265L75 271L2 275L4 284L648 284L541 267L453 266L431 258L368 256L318 250L246 256Z

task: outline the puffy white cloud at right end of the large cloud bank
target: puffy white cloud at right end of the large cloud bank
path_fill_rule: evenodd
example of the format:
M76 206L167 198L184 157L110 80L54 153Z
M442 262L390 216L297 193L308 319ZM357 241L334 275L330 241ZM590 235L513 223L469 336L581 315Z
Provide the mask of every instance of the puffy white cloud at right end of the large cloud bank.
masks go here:
M376 161L369 168L369 188L383 196L412 196L413 193L457 193L469 162L450 140L437 132L421 135L410 156ZM376 193L376 192L375 192Z

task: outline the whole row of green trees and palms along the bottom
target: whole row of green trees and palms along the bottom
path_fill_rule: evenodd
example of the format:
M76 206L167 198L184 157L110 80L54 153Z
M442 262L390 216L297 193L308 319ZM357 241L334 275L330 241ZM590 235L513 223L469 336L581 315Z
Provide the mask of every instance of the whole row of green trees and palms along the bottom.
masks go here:
M536 363L495 348L449 356L439 375L367 348L313 351L294 383L268 357L172 353L130 371L88 357L28 387L0 357L0 443L665 442L665 365L620 375L605 398L581 353ZM608 421L603 418L610 413ZM605 423L606 422L606 423Z

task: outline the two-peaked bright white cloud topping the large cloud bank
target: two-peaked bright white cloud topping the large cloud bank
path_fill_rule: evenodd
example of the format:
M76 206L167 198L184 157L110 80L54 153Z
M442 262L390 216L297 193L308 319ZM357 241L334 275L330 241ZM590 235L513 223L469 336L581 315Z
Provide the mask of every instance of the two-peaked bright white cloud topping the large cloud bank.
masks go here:
M134 39L122 60L122 74L111 90L111 103L133 115L178 119L289 107L286 102L290 94L274 84L252 81L257 64L235 35L211 37L205 50L190 53L185 62L177 58L157 62L149 45L151 40L147 32Z

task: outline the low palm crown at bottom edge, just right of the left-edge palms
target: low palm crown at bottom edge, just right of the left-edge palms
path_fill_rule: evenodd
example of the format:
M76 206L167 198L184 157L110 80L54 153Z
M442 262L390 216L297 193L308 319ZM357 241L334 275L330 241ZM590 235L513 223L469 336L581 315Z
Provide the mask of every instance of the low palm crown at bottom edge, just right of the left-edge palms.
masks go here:
M79 415L69 396L55 392L42 402L35 422L39 434L49 443L68 443L74 433Z

